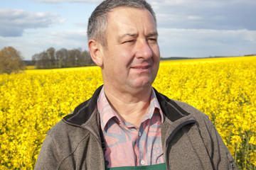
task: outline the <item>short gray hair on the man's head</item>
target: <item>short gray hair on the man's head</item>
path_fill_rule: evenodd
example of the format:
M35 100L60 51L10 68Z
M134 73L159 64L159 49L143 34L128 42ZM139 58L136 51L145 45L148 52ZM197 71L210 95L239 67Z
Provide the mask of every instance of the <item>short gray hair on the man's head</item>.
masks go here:
M103 47L107 47L107 14L114 8L121 6L147 9L153 16L154 21L156 21L156 14L151 5L145 0L105 0L95 8L89 18L87 26L88 40L97 40Z

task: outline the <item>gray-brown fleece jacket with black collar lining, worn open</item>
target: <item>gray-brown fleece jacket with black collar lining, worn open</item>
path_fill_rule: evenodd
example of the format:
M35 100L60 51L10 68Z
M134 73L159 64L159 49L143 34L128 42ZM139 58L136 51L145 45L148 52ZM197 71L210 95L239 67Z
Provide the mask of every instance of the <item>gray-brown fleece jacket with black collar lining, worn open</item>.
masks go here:
M48 131L35 169L105 169L97 112L101 89ZM207 115L155 92L164 113L161 141L167 169L238 169Z

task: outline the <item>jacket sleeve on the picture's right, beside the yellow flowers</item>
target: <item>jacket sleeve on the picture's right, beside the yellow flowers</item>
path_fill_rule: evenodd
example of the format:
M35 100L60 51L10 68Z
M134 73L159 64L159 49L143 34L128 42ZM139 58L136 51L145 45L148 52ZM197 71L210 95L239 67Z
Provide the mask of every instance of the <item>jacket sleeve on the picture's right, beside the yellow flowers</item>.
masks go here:
M205 121L209 127L210 137L212 140L211 159L214 169L238 169L238 167L235 165L232 154L230 154L228 147L226 147L223 139L220 137L220 134L215 129L213 123L208 117Z

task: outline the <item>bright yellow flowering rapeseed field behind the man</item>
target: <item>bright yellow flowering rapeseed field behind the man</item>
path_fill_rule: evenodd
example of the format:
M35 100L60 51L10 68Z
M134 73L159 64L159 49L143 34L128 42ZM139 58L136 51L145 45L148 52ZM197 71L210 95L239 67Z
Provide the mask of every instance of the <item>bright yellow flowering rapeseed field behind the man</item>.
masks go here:
M256 169L256 57L163 61L153 86L209 115L239 169ZM0 75L0 169L33 169L46 132L103 84L99 67Z

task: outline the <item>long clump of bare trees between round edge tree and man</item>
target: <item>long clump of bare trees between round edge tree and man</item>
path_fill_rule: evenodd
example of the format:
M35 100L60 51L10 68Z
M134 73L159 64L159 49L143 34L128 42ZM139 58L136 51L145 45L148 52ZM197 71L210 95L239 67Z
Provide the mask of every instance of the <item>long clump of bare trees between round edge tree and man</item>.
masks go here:
M32 56L32 64L36 69L54 69L66 67L85 67L95 63L90 57L90 52L82 51L80 48L67 50L62 48L58 51L54 47L49 47L46 51Z

